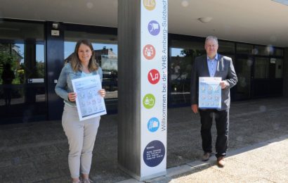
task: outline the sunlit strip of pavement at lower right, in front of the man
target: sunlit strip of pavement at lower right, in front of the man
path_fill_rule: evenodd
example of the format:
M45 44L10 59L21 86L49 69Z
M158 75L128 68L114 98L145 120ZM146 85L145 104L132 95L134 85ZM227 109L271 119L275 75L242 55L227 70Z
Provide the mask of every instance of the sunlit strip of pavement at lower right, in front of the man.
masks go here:
M277 152L277 153L275 153ZM230 151L224 168L216 157L169 168L167 174L145 182L288 182L288 135ZM128 179L118 183L139 183Z

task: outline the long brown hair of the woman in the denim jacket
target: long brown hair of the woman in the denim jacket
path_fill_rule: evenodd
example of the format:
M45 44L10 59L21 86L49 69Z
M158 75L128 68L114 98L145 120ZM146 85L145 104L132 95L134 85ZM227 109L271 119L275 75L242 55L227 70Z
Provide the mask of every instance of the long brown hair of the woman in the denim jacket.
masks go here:
M79 60L79 56L78 56L78 50L81 44L85 44L86 46L89 46L89 48L92 51L92 56L90 58L89 61L89 65L88 65L88 69L90 72L93 72L95 70L98 70L98 63L96 63L96 59L95 59L95 53L94 53L94 49L93 46L91 44L91 42L89 42L89 40L87 39L80 39L76 46L75 46L75 50L74 53L72 54L72 58L70 60L72 69L77 72L78 70L81 70L81 62Z

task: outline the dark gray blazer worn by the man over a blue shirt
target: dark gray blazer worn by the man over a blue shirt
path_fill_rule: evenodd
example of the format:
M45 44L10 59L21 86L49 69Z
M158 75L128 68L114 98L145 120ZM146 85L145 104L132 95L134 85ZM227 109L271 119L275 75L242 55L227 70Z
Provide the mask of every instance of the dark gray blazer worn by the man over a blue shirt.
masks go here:
M210 77L207 65L207 55L195 58L191 71L191 104L198 104L198 86L199 77ZM222 77L222 80L228 82L228 87L221 90L221 109L230 108L230 88L237 83L237 75L233 66L232 59L218 54L217 69L215 77Z

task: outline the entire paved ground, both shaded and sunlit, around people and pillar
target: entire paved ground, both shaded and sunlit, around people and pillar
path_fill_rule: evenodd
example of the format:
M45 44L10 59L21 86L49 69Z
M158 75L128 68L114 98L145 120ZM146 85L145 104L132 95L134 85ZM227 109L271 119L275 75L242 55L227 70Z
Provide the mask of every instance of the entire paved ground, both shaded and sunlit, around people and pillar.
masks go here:
M214 157L199 161L199 115L190 107L169 108L167 175L145 182L288 182L287 112L282 97L233 102L229 157L221 169ZM60 121L1 125L0 182L70 182L67 153ZM94 182L138 182L117 167L117 115L101 118L90 175Z

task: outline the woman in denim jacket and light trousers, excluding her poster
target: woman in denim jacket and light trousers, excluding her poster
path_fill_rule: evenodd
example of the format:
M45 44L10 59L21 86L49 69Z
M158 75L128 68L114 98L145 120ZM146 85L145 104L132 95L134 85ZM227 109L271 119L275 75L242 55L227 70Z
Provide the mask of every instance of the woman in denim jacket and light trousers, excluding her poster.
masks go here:
M80 182L79 170L83 182L89 183L89 172L92 162L92 151L99 127L100 116L79 121L75 100L77 94L73 92L71 80L79 77L100 75L103 73L96 63L93 46L86 40L79 40L70 61L62 69L55 92L64 99L62 125L69 143L68 164L72 182ZM98 91L100 96L105 96L105 90Z

